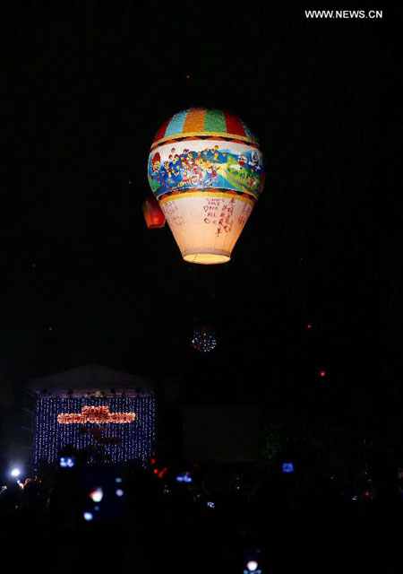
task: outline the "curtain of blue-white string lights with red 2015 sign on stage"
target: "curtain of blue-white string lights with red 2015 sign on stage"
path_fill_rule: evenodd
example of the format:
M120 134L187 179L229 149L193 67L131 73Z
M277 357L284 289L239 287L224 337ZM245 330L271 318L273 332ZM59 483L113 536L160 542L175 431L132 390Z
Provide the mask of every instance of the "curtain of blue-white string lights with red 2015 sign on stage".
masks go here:
M90 407L90 408L88 408ZM95 407L95 408L93 408ZM85 409L85 410L84 410ZM86 422L81 422L85 414ZM110 415L111 420L90 422L96 413ZM113 413L124 415L123 421L113 420ZM75 415L77 422L62 423L60 415ZM129 417L128 415L134 415ZM80 422L78 418L80 417ZM73 421L72 421L73 422ZM38 398L35 405L34 469L39 461L55 465L60 451L67 445L88 453L89 463L125 463L140 459L143 465L150 459L155 441L155 398Z

